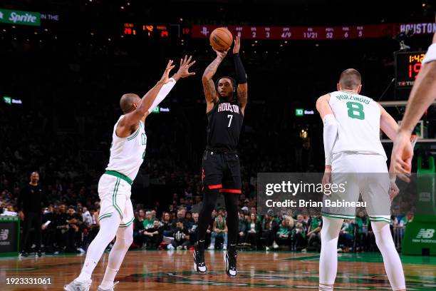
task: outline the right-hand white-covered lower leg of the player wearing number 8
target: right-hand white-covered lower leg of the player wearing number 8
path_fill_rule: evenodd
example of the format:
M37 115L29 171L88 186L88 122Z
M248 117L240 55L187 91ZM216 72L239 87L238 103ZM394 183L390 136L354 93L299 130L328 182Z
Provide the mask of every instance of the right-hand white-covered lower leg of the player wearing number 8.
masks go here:
M375 235L375 243L383 256L386 275L393 290L405 289L405 278L400 256L395 249L392 235L390 234L389 224L383 221L371 222Z

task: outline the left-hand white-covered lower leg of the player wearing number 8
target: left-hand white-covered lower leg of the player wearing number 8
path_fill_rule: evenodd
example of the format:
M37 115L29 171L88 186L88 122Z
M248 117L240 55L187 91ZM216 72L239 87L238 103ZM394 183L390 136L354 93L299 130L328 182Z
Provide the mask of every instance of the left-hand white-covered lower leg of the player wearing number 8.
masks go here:
M338 238L343 219L323 217L321 228L321 254L319 256L319 290L321 285L333 285L338 270ZM333 290L333 286L332 289Z

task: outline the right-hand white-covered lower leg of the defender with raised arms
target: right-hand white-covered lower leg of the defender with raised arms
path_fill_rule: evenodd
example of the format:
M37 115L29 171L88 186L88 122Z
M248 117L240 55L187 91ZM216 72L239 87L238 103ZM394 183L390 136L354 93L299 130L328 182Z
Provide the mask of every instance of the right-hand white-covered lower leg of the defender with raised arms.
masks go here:
M132 242L133 225L129 225L127 228L118 228L115 244L109 253L108 267L106 267L105 277L103 277L103 281L100 285L103 289L113 287L113 280L115 280L115 276L123 263L125 253L129 250Z

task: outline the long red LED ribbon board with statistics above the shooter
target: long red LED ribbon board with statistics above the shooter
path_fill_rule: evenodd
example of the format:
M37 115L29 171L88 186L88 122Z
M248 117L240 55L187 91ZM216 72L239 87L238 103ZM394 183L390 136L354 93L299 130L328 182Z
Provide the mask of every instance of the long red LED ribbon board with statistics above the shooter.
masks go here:
M202 39L219 26L193 25L192 38ZM227 29L241 39L271 40L328 40L366 39L392 35L393 26L375 24L363 26L227 26Z

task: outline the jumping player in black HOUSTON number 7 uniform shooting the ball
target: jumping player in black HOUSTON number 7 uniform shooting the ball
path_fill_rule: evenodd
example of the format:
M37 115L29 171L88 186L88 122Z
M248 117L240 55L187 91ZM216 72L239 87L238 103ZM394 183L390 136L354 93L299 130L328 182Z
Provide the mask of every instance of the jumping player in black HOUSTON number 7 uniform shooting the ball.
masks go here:
M200 273L207 272L204 238L218 195L224 193L228 228L228 245L224 245L224 249L227 249L225 260L229 277L237 275L238 198L242 188L237 146L248 89L245 69L239 58L240 47L240 39L237 37L233 48L236 80L227 76L218 78L215 83L212 80L230 48L222 52L215 50L217 58L206 68L202 77L208 124L207 146L202 160L203 205L194 247L194 269Z

